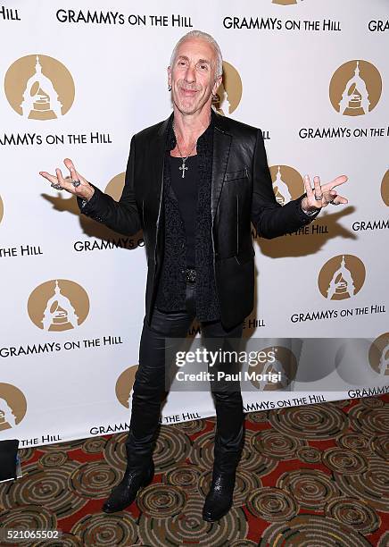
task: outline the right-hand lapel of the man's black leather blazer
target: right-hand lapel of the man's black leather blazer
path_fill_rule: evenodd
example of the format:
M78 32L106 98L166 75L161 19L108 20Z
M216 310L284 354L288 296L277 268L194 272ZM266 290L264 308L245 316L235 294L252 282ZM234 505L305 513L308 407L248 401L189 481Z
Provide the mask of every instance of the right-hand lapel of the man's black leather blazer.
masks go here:
M211 181L211 218L214 221L218 209L220 192L224 184L224 176L228 165L229 150L232 136L225 130L223 116L215 117L215 129L213 131L213 160L212 160L212 181Z

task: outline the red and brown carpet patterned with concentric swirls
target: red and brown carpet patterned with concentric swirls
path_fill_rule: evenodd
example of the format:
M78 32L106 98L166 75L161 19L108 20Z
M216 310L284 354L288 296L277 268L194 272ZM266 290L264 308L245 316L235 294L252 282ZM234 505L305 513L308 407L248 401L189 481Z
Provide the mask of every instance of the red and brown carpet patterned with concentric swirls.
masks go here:
M126 433L21 450L23 477L0 484L0 526L62 529L61 542L18 543L34 547L389 545L389 397L248 414L234 507L212 524L201 515L214 426L162 426L153 484L112 515L101 505Z

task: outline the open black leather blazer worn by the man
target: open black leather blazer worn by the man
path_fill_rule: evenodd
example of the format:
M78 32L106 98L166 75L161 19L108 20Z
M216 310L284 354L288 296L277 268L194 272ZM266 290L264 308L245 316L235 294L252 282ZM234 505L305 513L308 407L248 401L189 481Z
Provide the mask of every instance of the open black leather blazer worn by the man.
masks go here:
M172 114L171 114L172 115ZM261 130L212 111L211 178L213 267L220 320L228 329L253 307L254 251L251 223L261 237L299 230L305 215L300 198L280 206L274 195ZM131 139L126 182L119 202L95 187L82 212L125 235L143 229L147 256L146 321L151 322L163 257L162 182L168 120ZM80 204L80 200L79 200Z

